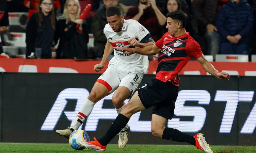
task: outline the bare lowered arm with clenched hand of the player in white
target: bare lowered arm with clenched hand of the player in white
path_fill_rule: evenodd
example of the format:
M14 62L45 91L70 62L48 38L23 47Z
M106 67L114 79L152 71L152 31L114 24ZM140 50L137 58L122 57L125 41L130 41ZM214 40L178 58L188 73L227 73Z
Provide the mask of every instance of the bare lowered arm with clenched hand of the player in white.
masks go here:
M101 62L99 64L94 65L94 69L93 69L94 71L99 72L104 68L105 63L106 63L108 57L113 52L113 50L114 50L113 46L111 45L111 43L109 41L107 41Z

